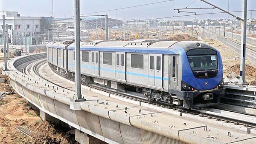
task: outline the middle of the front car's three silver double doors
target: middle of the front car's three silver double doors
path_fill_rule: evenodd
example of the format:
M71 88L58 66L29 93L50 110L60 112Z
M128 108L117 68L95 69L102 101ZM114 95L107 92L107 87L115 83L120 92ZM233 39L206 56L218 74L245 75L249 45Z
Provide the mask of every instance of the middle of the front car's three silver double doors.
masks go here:
M125 52L116 52L116 79L125 81L125 65Z

